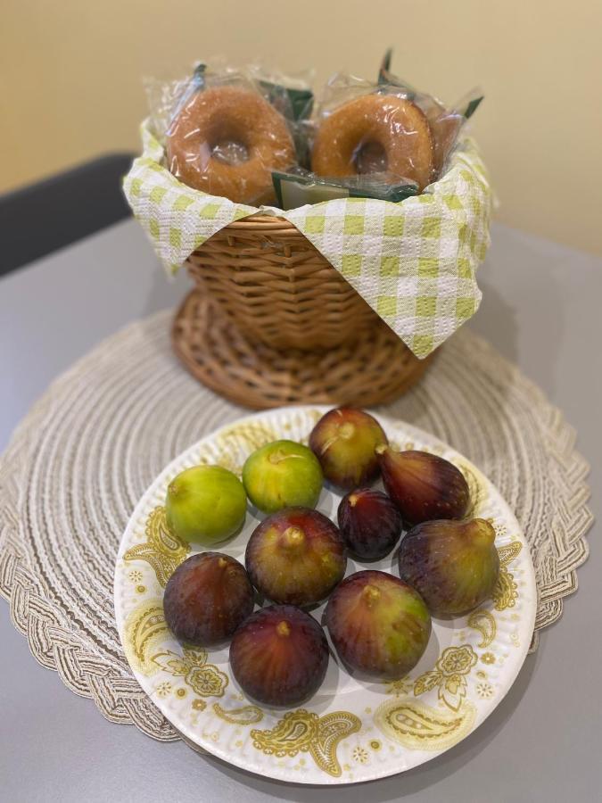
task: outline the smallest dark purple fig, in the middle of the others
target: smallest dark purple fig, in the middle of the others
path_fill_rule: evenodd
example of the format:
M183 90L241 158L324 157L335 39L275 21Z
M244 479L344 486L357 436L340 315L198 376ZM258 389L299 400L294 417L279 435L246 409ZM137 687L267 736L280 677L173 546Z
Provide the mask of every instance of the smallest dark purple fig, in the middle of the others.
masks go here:
M384 558L400 539L400 511L382 491L351 491L343 496L337 517L350 552L360 559Z

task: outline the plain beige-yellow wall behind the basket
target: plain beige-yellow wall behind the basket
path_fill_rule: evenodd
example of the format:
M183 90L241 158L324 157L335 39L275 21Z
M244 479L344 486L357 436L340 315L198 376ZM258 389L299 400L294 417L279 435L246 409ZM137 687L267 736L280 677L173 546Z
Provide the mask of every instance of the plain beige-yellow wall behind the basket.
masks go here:
M144 75L261 54L284 70L393 68L474 118L497 218L602 252L600 0L4 0L0 190L98 153L136 149Z

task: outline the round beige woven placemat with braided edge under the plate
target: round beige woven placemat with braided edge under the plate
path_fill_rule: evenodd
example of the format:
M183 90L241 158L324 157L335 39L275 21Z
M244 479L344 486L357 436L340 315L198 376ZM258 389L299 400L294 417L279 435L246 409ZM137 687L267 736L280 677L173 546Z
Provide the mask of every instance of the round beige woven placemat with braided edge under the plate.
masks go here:
M115 629L115 555L144 489L186 446L245 410L171 352L171 312L128 327L51 386L0 459L0 593L37 660L113 722L179 738L130 675ZM468 329L421 383L382 409L472 459L531 544L541 628L587 558L588 466L573 429L517 368Z

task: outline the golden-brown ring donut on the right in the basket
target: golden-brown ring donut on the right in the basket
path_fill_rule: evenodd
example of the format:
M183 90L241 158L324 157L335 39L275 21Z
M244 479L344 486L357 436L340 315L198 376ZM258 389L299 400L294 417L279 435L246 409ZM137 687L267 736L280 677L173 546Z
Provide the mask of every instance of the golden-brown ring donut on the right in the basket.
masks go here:
M318 176L357 175L363 148L382 148L387 180L416 181L419 190L433 176L433 138L418 107L397 95L363 95L335 109L317 129L311 169Z

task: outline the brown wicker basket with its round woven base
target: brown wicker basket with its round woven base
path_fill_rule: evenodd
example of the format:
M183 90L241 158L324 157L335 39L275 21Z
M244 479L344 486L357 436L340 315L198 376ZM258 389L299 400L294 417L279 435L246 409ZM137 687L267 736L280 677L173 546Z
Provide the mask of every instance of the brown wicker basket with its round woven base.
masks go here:
M196 289L177 313L175 350L235 402L389 402L429 362L285 219L231 223L187 267Z

